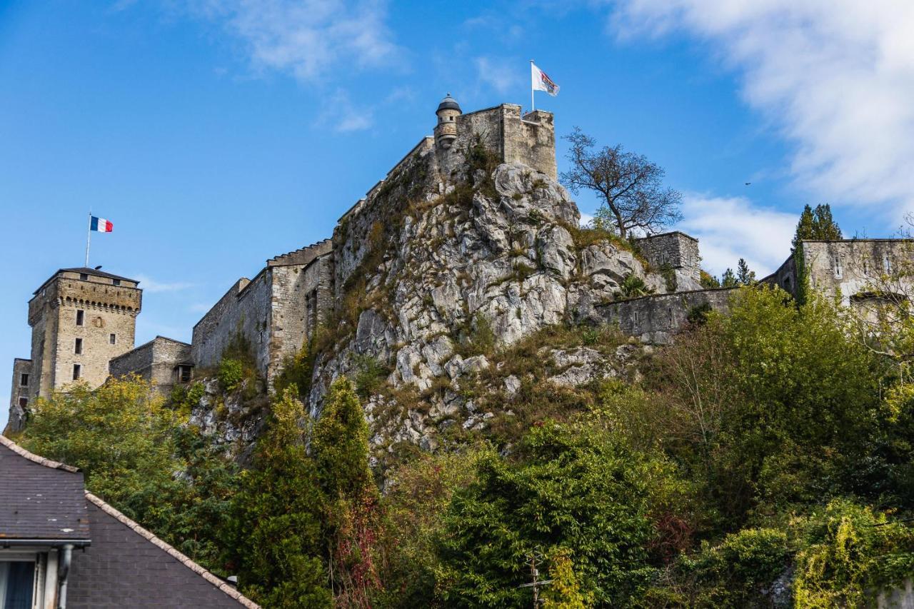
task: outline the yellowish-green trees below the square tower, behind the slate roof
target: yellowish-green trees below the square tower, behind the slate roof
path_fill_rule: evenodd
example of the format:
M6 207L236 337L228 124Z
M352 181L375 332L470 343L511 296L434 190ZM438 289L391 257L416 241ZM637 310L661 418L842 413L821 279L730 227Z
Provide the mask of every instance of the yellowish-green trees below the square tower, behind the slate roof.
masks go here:
M186 427L180 410L135 377L97 390L77 383L37 401L22 442L80 467L91 492L224 573L219 556L237 468Z

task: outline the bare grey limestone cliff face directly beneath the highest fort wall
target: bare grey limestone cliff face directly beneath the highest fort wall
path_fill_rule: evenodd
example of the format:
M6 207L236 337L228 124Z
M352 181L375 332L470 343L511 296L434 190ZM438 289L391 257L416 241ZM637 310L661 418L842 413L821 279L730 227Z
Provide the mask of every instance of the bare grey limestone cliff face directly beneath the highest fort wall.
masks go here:
M510 410L485 411L485 395L510 401L537 380L509 373L513 347L548 328L596 321L594 306L621 297L633 278L644 291L666 290L628 243L581 230L577 206L545 174L502 164L436 186L408 206L389 201L403 206L399 214L378 214L367 230L374 239L359 246L371 251L312 346L312 413L335 377L362 381L377 447L434 449L454 426L484 429ZM416 192L414 184L400 190ZM554 386L588 383L624 369L635 347L620 350L616 338L604 353L566 337L570 344L542 347L537 359Z

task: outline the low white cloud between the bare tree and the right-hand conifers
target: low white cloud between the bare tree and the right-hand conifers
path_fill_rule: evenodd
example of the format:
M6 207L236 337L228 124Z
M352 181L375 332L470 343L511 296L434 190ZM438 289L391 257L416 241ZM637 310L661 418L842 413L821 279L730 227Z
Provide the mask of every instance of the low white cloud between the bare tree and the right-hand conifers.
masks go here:
M702 267L719 274L745 258L759 277L776 270L791 253L797 218L756 207L745 197L685 194L683 221L676 227L696 237Z

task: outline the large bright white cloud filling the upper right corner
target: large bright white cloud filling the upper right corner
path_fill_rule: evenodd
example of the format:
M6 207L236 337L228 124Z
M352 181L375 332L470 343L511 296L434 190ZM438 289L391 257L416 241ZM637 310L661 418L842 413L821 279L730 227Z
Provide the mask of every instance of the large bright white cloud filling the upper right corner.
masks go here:
M914 3L910 0L614 0L623 38L684 29L737 69L743 95L795 144L816 200L914 209Z

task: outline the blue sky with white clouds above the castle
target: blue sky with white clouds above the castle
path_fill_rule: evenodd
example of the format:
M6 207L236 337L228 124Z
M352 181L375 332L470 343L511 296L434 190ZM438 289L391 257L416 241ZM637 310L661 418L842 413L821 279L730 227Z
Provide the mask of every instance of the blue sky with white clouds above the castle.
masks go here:
M526 107L531 58L559 134L664 166L712 272L771 271L805 203L889 235L914 208L909 4L0 1L0 362L28 357L27 300L81 265L90 208L114 222L91 265L146 288L137 344L189 340L234 280L328 237L444 93Z

